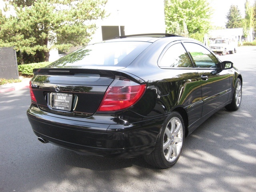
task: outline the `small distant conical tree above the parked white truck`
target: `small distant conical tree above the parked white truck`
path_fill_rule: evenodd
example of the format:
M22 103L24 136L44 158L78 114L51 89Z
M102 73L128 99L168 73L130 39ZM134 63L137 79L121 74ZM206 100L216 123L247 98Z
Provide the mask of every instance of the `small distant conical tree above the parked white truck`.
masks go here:
M238 6L231 5L226 15L228 22L226 22L226 28L241 28L242 27L242 16Z

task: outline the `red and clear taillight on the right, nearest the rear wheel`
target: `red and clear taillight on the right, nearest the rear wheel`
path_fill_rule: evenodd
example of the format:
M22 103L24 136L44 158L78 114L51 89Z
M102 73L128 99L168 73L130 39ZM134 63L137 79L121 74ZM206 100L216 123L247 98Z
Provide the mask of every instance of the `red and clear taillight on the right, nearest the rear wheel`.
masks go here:
M97 111L117 111L134 105L144 94L146 84L117 76L106 91Z

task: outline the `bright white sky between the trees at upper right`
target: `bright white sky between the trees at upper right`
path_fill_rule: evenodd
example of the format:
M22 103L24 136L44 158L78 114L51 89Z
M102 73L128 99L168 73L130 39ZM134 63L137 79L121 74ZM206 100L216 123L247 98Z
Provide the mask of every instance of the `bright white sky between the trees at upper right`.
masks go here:
M214 9L212 15L212 24L215 26L224 26L226 25L227 19L226 15L230 9L231 5L238 6L242 18L244 18L244 4L246 0L208 0L210 6ZM253 5L254 0L250 0L251 5Z

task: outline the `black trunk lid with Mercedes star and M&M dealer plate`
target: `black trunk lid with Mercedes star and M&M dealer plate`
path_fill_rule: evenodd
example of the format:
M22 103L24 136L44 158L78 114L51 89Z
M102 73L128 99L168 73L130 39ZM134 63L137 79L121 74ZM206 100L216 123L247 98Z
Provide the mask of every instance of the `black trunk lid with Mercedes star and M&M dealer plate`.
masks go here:
M113 69L120 68L124 67ZM31 88L42 111L89 117L96 112L108 86L114 81L115 70L65 67L35 69Z

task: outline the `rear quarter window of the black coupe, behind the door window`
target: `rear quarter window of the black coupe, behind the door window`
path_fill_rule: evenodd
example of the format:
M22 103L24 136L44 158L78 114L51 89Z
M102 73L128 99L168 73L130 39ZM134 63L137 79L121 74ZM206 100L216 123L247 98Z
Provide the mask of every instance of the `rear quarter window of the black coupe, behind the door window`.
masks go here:
M160 67L193 67L193 64L181 43L168 48L158 63Z

